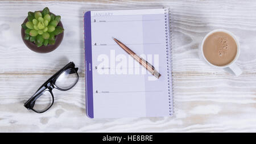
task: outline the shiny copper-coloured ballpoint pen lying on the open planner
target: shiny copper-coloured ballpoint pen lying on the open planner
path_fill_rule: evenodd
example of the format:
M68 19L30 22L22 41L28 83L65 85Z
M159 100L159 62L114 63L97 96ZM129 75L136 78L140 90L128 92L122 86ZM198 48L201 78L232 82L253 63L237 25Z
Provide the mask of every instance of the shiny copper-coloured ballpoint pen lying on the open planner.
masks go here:
M143 58L139 57L137 54L135 54L133 52L133 50L129 49L126 45L124 45L123 43L121 43L119 40L115 39L113 37L114 41L121 46L121 48L123 50L125 50L125 52L127 52L128 54L131 55L131 57L133 57L137 62L139 62L142 66L144 66L148 71L150 71L150 73L152 75L154 75L156 78L159 78L161 76L161 74L158 73L158 71L155 70L155 67L152 66L150 63L148 63L147 61L145 61Z

